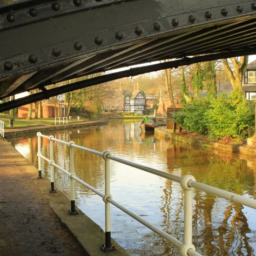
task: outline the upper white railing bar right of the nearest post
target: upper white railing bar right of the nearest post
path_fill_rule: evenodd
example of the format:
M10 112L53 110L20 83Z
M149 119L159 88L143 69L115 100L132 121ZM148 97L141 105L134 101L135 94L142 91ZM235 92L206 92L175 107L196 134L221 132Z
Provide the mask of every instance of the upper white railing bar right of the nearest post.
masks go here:
M198 188L199 190L206 193L213 194L215 196L225 198L235 203L239 203L241 205L246 205L248 207L256 209L256 200L254 199L246 198L244 196L240 196L239 194L221 190L220 188L208 186L193 180L188 181L188 186Z

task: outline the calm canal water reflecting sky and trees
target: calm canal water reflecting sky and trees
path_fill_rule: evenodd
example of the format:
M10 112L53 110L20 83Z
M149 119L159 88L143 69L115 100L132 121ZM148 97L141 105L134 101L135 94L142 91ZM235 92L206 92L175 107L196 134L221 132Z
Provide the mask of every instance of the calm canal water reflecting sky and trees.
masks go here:
M192 174L202 183L256 199L256 160L175 144L156 139L153 134L145 136L140 134L139 124L138 121L113 120L106 125L44 134L98 151L107 150L114 156L178 176ZM37 165L36 137L17 138L11 143ZM43 154L49 157L49 141L43 139L42 146ZM69 149L56 143L54 147L58 152L56 163L69 169ZM75 149L75 172L104 192L102 158ZM43 174L50 175L45 161ZM55 177L59 190L69 197L69 178L59 172ZM182 241L184 192L178 183L111 161L111 194L119 204ZM76 184L76 198L80 210L104 230L102 198L80 184ZM112 237L132 255L179 255L175 246L114 206L111 206L111 222ZM195 190L193 234L193 244L201 254L255 255L256 210Z

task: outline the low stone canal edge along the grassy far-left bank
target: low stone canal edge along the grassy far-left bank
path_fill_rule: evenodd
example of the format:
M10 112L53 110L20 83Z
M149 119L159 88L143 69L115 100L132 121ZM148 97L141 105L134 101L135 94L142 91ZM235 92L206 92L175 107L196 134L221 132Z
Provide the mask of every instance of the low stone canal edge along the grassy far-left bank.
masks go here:
M37 132L44 131L63 131L68 129L78 129L86 126L93 125L102 125L109 122L106 118L100 118L92 121L79 122L79 123L68 123L68 124L57 124L57 125L42 125L42 126L34 126L34 127L21 127L21 128L13 128L13 129L5 129L4 137L6 139L10 139L21 134L23 135L33 135Z

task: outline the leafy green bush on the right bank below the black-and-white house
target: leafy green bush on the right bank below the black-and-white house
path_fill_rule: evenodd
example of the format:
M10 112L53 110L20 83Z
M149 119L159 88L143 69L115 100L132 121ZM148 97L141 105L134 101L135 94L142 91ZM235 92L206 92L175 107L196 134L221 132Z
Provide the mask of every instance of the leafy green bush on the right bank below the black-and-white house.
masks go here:
M231 97L199 98L173 114L175 122L189 132L207 134L211 139L245 139L254 126L254 106L242 99L241 92Z

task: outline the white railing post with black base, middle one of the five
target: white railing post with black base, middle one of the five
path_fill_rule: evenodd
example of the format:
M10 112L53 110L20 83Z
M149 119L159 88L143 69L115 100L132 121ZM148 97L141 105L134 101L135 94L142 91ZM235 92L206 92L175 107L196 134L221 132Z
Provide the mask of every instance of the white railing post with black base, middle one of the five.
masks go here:
M63 119L64 120L64 119ZM75 144L75 142L69 142L69 158L70 158L70 194L71 194L71 207L69 211L69 215L75 215L78 214L76 211L76 205L75 205L75 200L76 200L76 192L75 192L75 180L72 178L72 174L75 174L74 171L74 149L72 147L72 144Z

